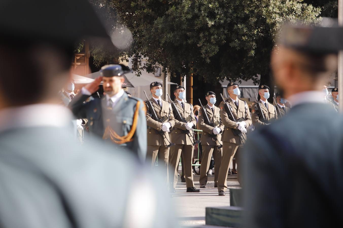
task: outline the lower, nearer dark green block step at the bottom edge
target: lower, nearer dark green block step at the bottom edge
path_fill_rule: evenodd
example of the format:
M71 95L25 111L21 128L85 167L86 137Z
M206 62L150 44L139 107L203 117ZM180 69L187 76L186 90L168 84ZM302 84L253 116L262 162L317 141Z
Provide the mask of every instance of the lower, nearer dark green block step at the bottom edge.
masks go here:
M241 227L242 207L206 207L205 224L224 227Z

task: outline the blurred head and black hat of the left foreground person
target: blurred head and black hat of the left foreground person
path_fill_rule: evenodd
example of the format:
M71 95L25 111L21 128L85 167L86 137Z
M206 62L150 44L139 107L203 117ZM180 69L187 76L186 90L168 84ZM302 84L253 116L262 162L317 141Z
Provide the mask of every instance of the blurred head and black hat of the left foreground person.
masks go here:
M70 80L75 43L110 40L85 0L2 0L0 9L0 109L53 103Z

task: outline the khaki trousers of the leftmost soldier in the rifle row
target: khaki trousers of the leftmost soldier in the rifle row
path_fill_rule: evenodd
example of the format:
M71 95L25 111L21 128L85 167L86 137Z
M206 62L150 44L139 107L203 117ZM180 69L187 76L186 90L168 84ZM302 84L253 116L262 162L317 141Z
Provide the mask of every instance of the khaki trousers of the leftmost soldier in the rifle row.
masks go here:
M169 148L159 145L147 145L146 161L151 161L151 166L154 167L156 157L158 156L159 172L165 177L166 184L168 183L168 159Z

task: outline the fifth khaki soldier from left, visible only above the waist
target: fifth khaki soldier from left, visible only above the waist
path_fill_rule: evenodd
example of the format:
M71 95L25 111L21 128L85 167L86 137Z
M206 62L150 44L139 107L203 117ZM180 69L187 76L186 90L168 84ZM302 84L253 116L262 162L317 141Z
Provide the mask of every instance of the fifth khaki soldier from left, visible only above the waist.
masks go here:
M263 123L260 121L260 115L263 115L264 118L270 122L277 119L277 112L275 106L268 102L269 94L269 87L266 85L260 85L258 88L258 93L260 94L261 99L259 103L261 105L261 109L263 114L259 113L257 110L256 103L252 105L251 114L252 114L252 124L255 127L259 127L261 125L268 125L269 123Z

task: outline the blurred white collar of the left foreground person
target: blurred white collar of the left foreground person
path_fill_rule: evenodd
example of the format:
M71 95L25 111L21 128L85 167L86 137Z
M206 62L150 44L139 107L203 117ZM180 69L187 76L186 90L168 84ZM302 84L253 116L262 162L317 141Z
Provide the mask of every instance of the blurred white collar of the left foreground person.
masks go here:
M71 126L72 113L63 105L31 104L0 110L0 131L21 127Z

